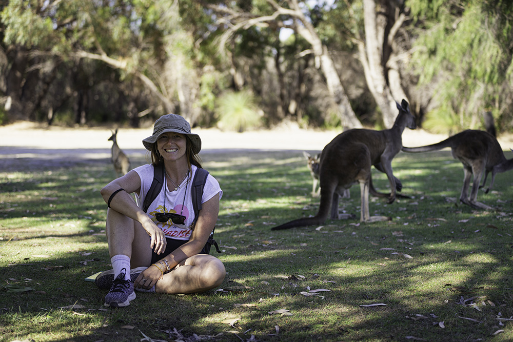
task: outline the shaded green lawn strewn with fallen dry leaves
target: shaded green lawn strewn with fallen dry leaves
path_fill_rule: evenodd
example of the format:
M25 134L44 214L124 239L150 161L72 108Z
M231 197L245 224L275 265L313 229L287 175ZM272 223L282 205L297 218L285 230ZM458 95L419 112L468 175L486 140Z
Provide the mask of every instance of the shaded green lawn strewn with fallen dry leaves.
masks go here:
M211 251L224 283L199 295L137 293L123 309L104 308L106 292L84 281L110 268L99 193L114 176L108 160L0 171L0 341L513 340L511 322L497 319L513 316L513 172L478 196L498 210L475 211L456 204L463 170L450 152L400 153L394 174L415 198L370 203L390 222L271 231L317 212L301 151L202 158L224 190L224 252ZM386 191L383 174L373 179ZM341 211L360 217L359 197L354 186ZM329 291L301 293L318 289ZM385 305L362 307L371 304ZM291 315L269 314L279 309Z

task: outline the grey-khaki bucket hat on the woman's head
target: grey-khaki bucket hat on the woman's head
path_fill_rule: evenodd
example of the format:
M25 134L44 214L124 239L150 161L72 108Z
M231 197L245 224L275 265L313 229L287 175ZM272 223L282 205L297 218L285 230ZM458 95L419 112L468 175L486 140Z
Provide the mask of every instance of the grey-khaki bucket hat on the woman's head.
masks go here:
M144 147L151 151L153 144L157 139L164 133L175 132L185 134L190 138L192 144L192 152L194 154L200 153L201 150L201 139L198 134L191 133L191 126L184 119L183 116L176 114L162 115L155 121L153 126L153 134L143 140Z

